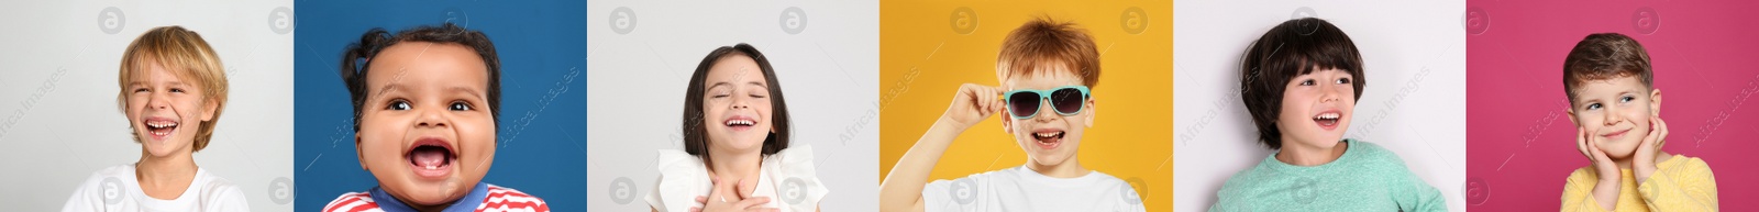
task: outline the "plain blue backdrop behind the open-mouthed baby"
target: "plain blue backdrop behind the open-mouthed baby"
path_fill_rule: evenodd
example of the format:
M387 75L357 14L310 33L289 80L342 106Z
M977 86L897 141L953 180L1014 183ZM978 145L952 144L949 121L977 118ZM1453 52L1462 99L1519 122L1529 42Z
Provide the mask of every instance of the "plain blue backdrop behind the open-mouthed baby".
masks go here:
M586 2L294 5L294 210L322 210L376 186L354 149L348 89L336 74L343 47L369 28L447 21L487 33L501 60L500 144L484 182L544 198L558 212L586 210Z

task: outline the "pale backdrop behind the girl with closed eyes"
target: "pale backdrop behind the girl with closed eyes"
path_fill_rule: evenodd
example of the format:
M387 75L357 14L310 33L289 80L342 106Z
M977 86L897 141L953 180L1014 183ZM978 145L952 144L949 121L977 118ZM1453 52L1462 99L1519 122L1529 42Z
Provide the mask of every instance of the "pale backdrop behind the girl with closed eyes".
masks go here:
M588 2L588 205L649 210L658 149L682 149L684 86L714 47L776 67L793 145L811 144L827 212L876 210L878 2ZM793 11L799 9L799 11Z

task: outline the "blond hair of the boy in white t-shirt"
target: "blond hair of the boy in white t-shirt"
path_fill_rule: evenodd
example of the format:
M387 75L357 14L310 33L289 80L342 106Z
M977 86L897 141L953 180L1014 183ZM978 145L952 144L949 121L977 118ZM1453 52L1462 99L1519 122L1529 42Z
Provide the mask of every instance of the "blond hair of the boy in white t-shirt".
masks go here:
M137 70L144 70L142 65L150 63L158 63L165 70L176 72L181 79L193 79L204 93L204 105L206 102L215 103L213 119L202 121L195 130L193 151L202 151L208 147L208 140L213 138L215 123L220 121L220 112L225 109L227 79L225 68L220 65L220 54L202 40L202 35L183 26L146 30L121 54L121 72L116 77L116 86L121 88L116 93L118 110L127 110L128 107L128 77ZM141 142L141 135L134 135L134 142Z

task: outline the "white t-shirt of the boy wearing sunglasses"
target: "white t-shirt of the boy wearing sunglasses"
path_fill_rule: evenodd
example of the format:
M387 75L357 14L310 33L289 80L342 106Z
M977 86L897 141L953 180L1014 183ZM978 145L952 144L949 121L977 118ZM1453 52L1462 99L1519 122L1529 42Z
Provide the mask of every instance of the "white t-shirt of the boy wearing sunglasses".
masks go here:
M925 212L1142 212L1136 189L1117 177L1089 172L1075 179L1025 166L934 180L922 187Z

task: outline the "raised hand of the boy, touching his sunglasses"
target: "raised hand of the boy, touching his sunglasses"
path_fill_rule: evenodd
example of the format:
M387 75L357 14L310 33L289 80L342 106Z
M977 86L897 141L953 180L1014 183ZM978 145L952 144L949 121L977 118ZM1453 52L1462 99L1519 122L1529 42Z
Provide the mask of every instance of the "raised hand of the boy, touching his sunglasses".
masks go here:
M1006 109L1008 103L997 96L1001 96L1001 89L997 88L962 84L959 86L959 93L953 95L953 103L946 107L939 121L964 131Z

